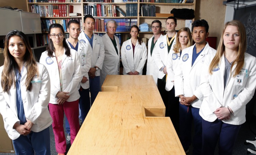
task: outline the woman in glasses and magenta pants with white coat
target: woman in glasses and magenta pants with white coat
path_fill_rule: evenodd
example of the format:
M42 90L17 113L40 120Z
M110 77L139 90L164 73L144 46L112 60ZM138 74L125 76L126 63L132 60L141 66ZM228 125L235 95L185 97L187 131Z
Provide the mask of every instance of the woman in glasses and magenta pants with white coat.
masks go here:
M60 24L52 24L49 27L49 45L40 58L40 63L45 65L51 78L49 110L53 118L55 147L59 155L66 152L64 112L70 125L71 145L80 128L80 95L77 86L82 80L79 56L75 50L68 47L64 33Z

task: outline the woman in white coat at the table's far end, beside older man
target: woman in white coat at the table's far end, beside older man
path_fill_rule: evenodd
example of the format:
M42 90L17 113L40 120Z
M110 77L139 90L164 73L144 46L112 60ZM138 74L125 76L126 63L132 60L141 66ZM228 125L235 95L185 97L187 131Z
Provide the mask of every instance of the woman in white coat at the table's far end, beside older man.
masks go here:
M139 28L133 25L130 30L131 39L125 41L121 48L124 75L142 75L147 59L146 44L138 37Z

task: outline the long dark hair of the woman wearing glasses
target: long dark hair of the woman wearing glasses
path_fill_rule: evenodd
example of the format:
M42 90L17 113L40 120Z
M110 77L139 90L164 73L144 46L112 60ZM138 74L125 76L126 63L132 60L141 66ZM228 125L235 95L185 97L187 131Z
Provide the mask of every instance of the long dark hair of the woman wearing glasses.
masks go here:
M63 27L61 26L61 24L52 24L52 25L49 27L49 31L48 31L48 34L49 34L49 35L50 35L51 30L52 30L53 28L60 28L61 31L62 31L62 33L63 33L63 34L65 33L65 31L64 31ZM70 55L71 55L71 54L70 54L70 49L69 49L69 46L68 46L68 44L67 44L67 42L66 42L65 35L64 35L63 37L64 37L64 38L63 38L63 47L64 47L64 49L66 50L65 54L66 54L67 56L70 56ZM53 52L55 52L55 47L54 47L54 45L53 45L52 39L49 39L49 44L46 46L46 50L47 50L47 54L48 54L49 57L54 57L54 56L53 56Z

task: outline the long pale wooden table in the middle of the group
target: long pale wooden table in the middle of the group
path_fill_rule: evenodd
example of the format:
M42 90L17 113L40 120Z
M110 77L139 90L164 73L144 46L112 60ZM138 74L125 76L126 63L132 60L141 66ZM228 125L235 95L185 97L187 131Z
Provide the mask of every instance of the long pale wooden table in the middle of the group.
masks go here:
M68 155L185 155L152 76L107 75Z

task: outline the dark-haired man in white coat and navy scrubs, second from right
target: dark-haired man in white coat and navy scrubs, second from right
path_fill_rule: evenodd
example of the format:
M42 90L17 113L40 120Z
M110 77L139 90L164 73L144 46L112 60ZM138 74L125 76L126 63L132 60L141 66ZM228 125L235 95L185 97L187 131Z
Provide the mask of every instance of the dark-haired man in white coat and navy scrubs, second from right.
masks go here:
M202 118L199 109L203 94L199 89L201 70L208 54L216 53L205 39L209 35L209 25L205 20L192 24L192 37L195 45L182 51L179 69L174 70L175 96L180 97L180 140L185 152L191 144L191 124L194 121L193 154L201 155Z

